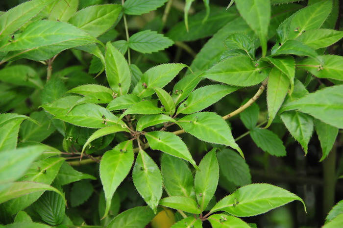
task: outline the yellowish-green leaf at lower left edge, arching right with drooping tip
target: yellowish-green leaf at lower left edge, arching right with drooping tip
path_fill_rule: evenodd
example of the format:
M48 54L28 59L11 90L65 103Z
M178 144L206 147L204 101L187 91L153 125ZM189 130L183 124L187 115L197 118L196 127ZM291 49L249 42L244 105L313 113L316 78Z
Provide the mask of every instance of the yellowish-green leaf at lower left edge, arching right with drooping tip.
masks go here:
M29 181L14 182L9 188L0 192L0 203L4 203L6 201L38 191L54 191L62 195L60 191L58 191L54 187L51 187L49 184L42 184ZM62 204L64 204L63 198Z

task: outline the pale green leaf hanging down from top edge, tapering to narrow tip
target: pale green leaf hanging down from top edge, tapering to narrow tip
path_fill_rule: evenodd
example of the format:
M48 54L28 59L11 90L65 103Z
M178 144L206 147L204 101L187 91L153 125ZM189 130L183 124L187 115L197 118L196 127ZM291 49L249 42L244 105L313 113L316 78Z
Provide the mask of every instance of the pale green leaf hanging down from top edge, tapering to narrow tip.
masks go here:
M258 35L265 56L271 14L270 0L239 0L236 1L236 6L246 23Z

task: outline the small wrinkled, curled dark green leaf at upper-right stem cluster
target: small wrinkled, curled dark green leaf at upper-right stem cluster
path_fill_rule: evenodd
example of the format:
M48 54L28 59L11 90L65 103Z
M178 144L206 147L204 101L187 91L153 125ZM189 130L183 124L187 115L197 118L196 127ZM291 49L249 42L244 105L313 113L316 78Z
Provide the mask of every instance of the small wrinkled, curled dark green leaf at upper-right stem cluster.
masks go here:
M244 50L251 59L255 59L256 47L254 41L243 33L233 33L229 35L225 40L225 46L228 50Z

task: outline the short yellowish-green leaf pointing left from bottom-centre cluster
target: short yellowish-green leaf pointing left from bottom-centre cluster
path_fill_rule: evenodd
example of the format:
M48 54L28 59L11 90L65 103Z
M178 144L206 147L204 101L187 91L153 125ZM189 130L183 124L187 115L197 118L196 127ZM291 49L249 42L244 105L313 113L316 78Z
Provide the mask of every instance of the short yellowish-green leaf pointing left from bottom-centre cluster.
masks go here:
M200 214L197 203L195 200L183 196L171 196L163 198L160 205L171 207L173 209L182 210L188 213Z

